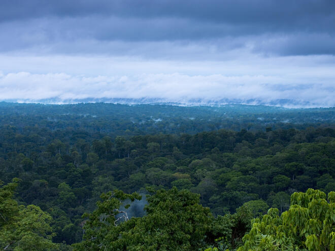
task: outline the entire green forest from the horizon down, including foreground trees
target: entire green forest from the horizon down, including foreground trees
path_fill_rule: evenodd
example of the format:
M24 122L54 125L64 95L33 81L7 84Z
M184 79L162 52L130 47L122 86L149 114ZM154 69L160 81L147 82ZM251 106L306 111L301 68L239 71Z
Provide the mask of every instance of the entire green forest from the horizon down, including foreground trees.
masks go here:
M334 250L335 109L0 109L2 249Z

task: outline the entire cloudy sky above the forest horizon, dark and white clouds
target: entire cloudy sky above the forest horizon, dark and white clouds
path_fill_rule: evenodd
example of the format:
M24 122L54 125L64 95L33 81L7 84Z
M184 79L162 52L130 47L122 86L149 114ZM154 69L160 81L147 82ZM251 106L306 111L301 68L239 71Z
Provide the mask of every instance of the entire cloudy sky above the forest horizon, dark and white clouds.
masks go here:
M0 101L335 106L333 0L2 0Z

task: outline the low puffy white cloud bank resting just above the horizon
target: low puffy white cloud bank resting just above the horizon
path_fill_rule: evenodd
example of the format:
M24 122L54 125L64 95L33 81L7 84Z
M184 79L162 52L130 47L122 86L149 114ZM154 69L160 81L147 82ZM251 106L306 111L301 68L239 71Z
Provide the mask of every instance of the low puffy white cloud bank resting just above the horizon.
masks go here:
M290 84L283 84L290 83ZM182 103L242 102L288 106L335 106L334 85L305 84L275 76L140 74L85 77L68 74L0 75L0 100L72 102L75 100L149 99ZM280 100L290 100L283 104Z

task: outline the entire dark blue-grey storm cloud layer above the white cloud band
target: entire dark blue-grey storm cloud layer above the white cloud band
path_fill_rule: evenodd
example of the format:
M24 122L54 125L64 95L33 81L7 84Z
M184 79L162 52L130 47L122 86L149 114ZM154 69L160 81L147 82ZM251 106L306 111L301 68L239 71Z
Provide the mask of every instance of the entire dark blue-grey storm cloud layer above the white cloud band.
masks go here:
M81 48L115 54L109 42L184 41L200 47L210 43L215 53L248 48L276 55L335 54L334 23L332 0L5 0L0 50L39 47L66 53ZM316 43L317 38L325 41ZM105 44L90 47L92 41ZM131 46L124 51L143 51L141 44Z

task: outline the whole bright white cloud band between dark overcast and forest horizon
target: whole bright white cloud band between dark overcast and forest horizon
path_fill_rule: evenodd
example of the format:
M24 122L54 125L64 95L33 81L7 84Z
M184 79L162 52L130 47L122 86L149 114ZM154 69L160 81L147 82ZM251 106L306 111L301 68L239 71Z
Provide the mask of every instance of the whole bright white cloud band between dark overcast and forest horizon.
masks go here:
M335 106L329 55L220 61L0 54L0 101L248 103ZM128 101L129 101L128 100Z

